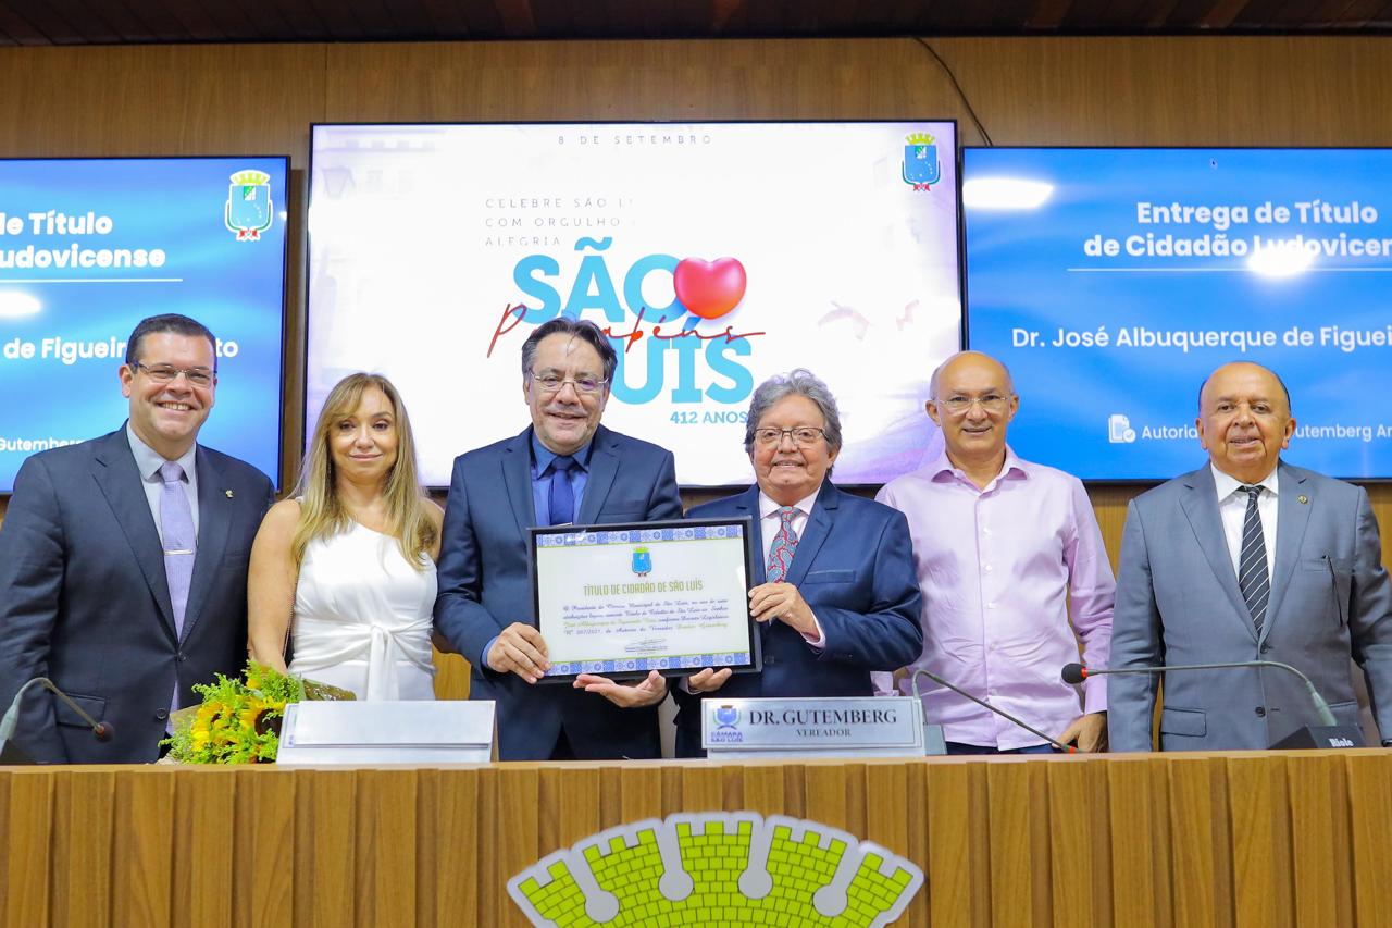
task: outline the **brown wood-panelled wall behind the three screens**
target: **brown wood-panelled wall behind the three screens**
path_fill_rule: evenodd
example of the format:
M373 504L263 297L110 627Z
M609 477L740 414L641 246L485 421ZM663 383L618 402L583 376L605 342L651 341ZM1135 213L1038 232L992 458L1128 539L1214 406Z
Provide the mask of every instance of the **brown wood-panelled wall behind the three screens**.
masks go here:
M997 144L1392 146L1392 56L1379 38L933 45ZM291 155L287 484L302 425L301 217L313 121L923 116L958 118L963 142L980 141L912 39L8 47L0 86L3 156ZM1091 488L1114 559L1136 492ZM1370 495L1392 524L1392 485ZM444 691L461 693L448 681Z

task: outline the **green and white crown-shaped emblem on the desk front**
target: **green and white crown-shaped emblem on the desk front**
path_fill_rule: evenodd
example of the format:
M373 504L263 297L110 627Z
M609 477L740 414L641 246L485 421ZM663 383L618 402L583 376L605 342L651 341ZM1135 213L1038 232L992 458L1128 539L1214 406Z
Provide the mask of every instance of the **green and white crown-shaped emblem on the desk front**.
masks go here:
M697 812L619 825L508 881L533 925L835 925L898 918L912 861L820 822Z

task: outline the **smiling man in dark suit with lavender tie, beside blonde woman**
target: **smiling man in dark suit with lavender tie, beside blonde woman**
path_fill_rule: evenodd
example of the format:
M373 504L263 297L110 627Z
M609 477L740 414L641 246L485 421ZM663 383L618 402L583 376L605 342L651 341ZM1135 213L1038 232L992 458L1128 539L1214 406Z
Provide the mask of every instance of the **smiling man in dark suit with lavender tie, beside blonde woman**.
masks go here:
M0 527L0 706L47 676L114 733L102 743L43 690L18 745L47 764L159 757L171 708L246 660L246 559L266 475L196 443L213 408L213 334L180 315L125 347L125 426L35 454Z

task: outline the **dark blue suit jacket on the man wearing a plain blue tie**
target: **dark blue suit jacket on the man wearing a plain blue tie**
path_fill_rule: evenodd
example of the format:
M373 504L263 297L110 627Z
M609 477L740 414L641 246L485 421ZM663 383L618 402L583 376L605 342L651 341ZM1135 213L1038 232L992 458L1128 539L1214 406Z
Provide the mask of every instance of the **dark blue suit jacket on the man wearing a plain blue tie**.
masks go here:
M532 502L532 429L454 461L440 548L436 628L472 665L470 699L498 704L498 757L544 761L565 727L580 759L660 757L657 709L621 709L562 683L528 684L494 673L483 649L514 621L533 623L528 573ZM579 523L681 518L671 451L596 429Z

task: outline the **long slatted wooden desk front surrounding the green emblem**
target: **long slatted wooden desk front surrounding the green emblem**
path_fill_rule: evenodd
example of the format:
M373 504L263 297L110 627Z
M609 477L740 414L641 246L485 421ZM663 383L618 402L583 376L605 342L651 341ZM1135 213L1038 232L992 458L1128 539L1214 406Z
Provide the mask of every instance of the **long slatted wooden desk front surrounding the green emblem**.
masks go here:
M912 925L1392 925L1392 751L0 769L4 925L525 924L509 876L678 811L917 861Z

